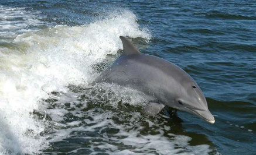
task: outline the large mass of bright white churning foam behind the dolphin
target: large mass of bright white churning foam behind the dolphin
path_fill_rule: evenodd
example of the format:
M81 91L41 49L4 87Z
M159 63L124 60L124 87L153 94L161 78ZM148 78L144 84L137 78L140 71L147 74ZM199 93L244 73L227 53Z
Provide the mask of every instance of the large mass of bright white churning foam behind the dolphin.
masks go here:
M22 8L1 10L6 12L1 16L4 20L19 14L25 23L37 22L37 19L30 21L34 14ZM17 27L27 26L1 24L15 31ZM67 110L48 110L49 105L42 99L52 97L52 91L67 93L69 84L87 86L96 76L91 66L122 48L119 36L151 37L148 30L141 29L136 23L136 16L125 11L84 26L56 26L30 31L15 38L13 45L18 47L16 50L0 48L0 152L32 154L45 149L48 145L46 137L39 134L48 122L33 117L32 112L46 112L53 118L52 124L64 126L59 122ZM62 133L51 136L56 140L62 137Z

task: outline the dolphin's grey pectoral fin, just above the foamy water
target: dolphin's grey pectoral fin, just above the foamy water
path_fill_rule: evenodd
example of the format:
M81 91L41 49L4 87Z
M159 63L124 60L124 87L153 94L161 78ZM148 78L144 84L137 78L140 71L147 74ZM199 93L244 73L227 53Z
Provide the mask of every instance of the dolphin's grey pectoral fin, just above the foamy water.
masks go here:
M157 115L164 107L165 104L149 102L142 112L146 115L155 117L155 115Z

